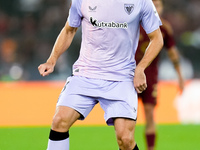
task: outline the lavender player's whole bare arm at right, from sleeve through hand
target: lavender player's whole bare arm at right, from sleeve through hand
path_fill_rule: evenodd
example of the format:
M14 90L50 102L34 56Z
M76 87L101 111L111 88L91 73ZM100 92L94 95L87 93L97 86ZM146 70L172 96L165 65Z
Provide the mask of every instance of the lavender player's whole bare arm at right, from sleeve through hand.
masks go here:
M135 69L134 86L138 93L141 93L147 88L144 70L151 64L151 62L158 55L163 47L163 37L160 28L149 33L148 37L150 39L150 43L145 51L142 60Z

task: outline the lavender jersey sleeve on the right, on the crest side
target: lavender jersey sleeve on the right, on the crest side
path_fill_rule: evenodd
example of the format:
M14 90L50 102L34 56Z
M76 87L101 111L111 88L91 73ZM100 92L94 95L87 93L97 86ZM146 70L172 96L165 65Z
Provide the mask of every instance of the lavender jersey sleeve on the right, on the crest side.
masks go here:
M152 0L143 0L142 5L141 25L149 34L158 29L162 23Z

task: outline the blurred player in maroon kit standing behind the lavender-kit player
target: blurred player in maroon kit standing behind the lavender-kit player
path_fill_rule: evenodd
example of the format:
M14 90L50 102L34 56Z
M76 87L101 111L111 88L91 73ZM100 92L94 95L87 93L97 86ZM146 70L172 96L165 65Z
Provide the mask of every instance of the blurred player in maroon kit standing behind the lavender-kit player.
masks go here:
M161 14L163 11L162 0L153 0L153 3L157 9L158 14L161 17ZM184 81L183 81L183 77L180 71L179 54L175 46L175 41L174 41L173 33L172 33L173 32L172 27L162 17L161 17L161 21L163 25L160 28L163 34L164 47L166 48L168 56L171 62L173 63L174 68L178 74L179 87L180 87L180 90L182 91L184 87ZM137 64L142 59L149 42L150 41L149 41L148 36L146 35L145 31L141 27L139 45L138 45L138 49L135 56ZM145 119L146 119L145 136L146 136L148 150L154 150L155 139L156 139L154 108L156 105L156 98L157 98L158 61L159 61L159 56L157 56L153 60L151 65L146 68L145 74L146 74L146 79L147 79L147 89L143 91L143 93L139 94L139 97L142 99L142 102L144 104Z

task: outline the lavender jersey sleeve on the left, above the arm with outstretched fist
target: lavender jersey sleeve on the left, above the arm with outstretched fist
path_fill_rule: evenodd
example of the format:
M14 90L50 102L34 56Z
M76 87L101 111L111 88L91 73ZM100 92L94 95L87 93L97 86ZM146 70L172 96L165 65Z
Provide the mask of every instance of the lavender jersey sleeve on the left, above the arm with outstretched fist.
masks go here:
M72 0L71 8L69 9L69 16L67 21L71 27L81 26L82 13L81 13L82 0Z

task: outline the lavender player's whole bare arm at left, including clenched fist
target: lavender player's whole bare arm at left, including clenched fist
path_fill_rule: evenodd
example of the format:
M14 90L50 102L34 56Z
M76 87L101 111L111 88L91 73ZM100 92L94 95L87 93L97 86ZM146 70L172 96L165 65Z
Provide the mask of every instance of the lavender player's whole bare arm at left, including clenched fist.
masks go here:
M47 76L54 71L54 66L56 65L58 58L69 48L76 31L77 27L71 27L69 26L69 23L66 22L56 39L51 55L46 63L43 63L38 67L41 76Z

